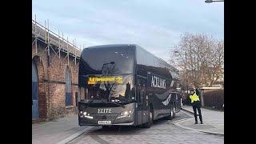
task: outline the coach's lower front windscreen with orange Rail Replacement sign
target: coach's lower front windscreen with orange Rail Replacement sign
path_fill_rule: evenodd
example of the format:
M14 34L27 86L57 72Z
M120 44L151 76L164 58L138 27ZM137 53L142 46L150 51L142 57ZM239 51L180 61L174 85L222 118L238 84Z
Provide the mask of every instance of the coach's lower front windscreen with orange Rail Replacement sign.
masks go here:
M103 99L106 102L132 102L134 85L132 74L102 76L102 74L88 75L88 94L86 99Z

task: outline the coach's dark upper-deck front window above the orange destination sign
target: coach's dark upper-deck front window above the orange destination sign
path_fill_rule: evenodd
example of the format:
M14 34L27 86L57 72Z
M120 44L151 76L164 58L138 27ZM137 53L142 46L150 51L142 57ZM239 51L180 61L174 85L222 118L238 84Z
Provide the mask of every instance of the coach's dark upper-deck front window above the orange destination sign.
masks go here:
M86 49L82 52L82 66L83 74L132 74L134 49L130 47Z

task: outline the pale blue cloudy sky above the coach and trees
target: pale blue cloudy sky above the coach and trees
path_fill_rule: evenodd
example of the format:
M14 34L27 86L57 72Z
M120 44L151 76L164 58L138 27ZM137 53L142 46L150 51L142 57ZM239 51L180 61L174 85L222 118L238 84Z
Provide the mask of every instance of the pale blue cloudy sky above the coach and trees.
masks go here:
M204 0L32 0L32 19L81 46L137 44L159 58L182 34L224 39L224 2Z

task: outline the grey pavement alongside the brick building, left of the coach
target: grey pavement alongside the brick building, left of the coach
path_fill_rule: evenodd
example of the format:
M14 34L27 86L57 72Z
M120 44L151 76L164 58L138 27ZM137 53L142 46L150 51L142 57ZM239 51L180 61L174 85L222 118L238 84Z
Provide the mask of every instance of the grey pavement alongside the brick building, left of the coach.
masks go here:
M49 122L32 124L32 143L62 144L84 134L93 126L78 126L78 115L70 114Z

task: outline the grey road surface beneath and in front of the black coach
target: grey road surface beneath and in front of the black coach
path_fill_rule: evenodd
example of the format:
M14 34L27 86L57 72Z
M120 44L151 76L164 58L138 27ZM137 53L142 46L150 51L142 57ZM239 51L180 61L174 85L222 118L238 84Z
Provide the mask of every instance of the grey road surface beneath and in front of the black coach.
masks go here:
M179 126L174 126L174 122L192 118L191 114L180 111L173 120L159 119L154 122L150 129L122 126L102 130L101 126L86 131L75 138L69 144L137 144L137 143L224 143L224 136L216 134L206 134L195 130L187 130Z

